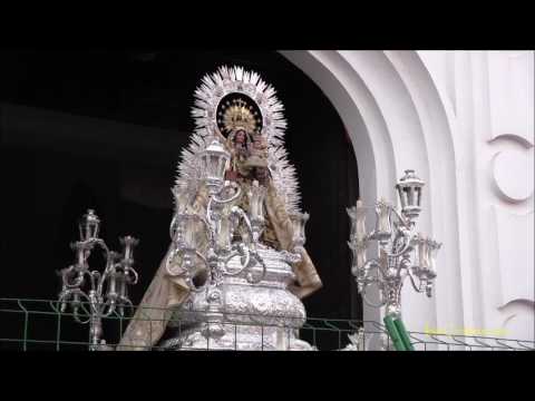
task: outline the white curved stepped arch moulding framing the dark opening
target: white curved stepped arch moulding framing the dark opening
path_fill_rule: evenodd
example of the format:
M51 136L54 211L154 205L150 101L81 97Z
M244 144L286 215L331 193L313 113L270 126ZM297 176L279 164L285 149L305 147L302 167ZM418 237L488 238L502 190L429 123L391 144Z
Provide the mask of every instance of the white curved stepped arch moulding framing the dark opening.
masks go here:
M427 183L420 228L445 243L434 299L403 291L410 330L464 325L457 185L450 110L415 51L282 51L324 91L357 156L361 197L396 199L393 185L415 168ZM370 216L371 217L371 216ZM364 320L380 319L364 307Z

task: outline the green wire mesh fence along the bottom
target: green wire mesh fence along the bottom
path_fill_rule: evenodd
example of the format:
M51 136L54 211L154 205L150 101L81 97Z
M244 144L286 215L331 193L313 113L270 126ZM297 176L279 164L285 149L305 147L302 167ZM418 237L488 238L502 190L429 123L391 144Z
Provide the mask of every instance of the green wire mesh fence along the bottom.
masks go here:
M79 316L82 321L90 317L89 305L79 303ZM156 309L147 307L147 315ZM119 342L135 309L130 307L121 315L118 311L103 319L103 350L113 350ZM144 310L145 311L145 310ZM163 311L167 312L167 311ZM236 314L233 314L236 317ZM263 315L262 319L266 316ZM145 320L146 317L139 317ZM148 320L148 319L147 319ZM157 323L157 321L149 320ZM288 320L286 320L288 321ZM171 320L175 326L174 334L186 330L186 324ZM207 320L207 324L211 322ZM246 323L235 325L243 326ZM259 324L255 323L257 326ZM225 326L228 327L227 323ZM281 325L278 324L278 327ZM263 329L264 326L262 326ZM269 325L265 325L268 331ZM228 330L228 329L227 329ZM232 329L231 329L232 330ZM371 321L315 319L308 317L299 330L299 338L315 346L319 351L334 350L396 350L383 324ZM162 349L160 344L171 339L163 339L150 350ZM407 332L403 340L409 344L405 349L415 351L533 351L534 341L504 338L454 335L429 332ZM17 351L87 351L90 348L88 324L75 321L70 307L61 312L58 301L0 299L0 350ZM206 341L210 349L210 339Z

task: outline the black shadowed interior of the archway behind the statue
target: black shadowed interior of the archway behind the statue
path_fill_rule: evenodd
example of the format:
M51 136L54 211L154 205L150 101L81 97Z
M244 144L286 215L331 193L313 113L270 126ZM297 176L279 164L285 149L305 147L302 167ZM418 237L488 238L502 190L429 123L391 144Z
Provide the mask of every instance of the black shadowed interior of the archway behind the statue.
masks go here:
M140 282L132 288L140 301L168 246L169 188L193 130L193 92L223 63L260 72L285 106L286 148L311 214L305 246L324 283L304 300L309 316L362 317L346 244L346 207L358 197L352 146L322 91L274 51L2 50L0 297L55 299L55 271L72 262L76 222L93 207L110 247L119 235L140 238ZM0 338L20 338L19 317L0 315ZM32 335L54 336L50 322L35 323ZM87 336L62 324L62 335ZM315 341L320 349L347 343L328 332Z

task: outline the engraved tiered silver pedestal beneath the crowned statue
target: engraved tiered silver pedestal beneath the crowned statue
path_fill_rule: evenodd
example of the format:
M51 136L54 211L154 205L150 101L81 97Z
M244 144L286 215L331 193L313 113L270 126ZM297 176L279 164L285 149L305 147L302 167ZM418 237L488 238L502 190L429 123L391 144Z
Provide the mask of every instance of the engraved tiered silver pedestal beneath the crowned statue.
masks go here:
M228 274L221 284L222 315L208 313L204 292L192 293L172 316L169 326L175 336L159 345L164 350L242 350L242 351L311 351L313 348L296 338L307 320L303 303L288 285L293 281L288 255L269 247L259 250L266 265L264 278L256 284L247 274L261 273L260 265L231 276L241 270L239 257L227 265ZM217 335L213 329L217 326ZM221 334L223 333L223 334Z

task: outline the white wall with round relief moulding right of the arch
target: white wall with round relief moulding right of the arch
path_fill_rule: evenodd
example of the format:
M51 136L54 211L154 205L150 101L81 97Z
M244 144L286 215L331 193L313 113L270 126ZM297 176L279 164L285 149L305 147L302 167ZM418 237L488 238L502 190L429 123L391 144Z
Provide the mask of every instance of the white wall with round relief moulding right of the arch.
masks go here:
M455 110L475 327L534 339L534 52L419 51Z

